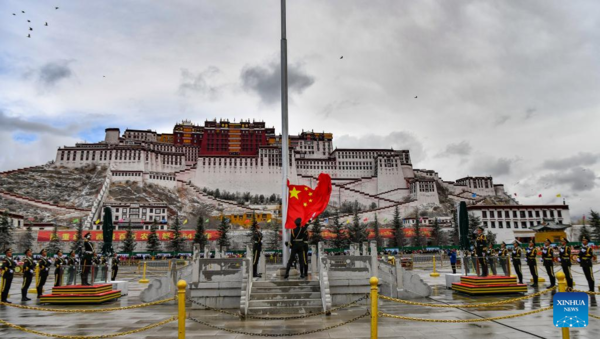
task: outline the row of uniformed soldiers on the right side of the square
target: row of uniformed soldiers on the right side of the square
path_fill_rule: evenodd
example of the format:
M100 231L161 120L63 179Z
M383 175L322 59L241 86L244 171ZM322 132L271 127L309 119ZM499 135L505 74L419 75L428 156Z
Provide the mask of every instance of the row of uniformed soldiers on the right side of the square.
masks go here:
M594 251L589 245L590 239L584 236L581 240L581 248L577 255L573 255L572 246L569 245L567 238L561 238L560 246L553 247L550 239L544 241L544 245L539 248L535 245L535 241L531 239L527 248L525 248L525 260L529 271L532 276L532 287L538 286L538 255L541 254L539 259L546 270L550 285L548 288L552 288L556 285L556 275L554 272L554 255L557 254L558 262L565 273L567 280L567 286L573 288L573 274L571 271L572 261L576 261L581 266L583 274L588 282L588 287L591 292L594 291L594 272L593 272L593 257ZM473 267L479 268L479 274L486 277L490 274L497 275L496 262L499 262L503 271L508 272L509 259L513 264L515 274L518 277L519 284L523 284L523 272L521 270L521 258L523 255L523 249L521 248L521 242L515 240L513 242L512 250L506 248L506 243L502 242L500 249L496 251L492 246L488 245L486 236L483 234L483 228L477 229L477 235L475 238L475 247L472 251L465 252L465 269L468 273L467 264L469 258L473 263Z

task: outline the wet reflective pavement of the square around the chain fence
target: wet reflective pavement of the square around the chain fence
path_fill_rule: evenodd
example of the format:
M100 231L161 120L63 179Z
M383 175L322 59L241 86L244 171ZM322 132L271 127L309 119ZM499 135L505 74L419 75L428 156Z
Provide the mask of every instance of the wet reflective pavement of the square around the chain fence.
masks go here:
M577 270L578 268L575 268ZM444 284L444 273L448 270L442 268L439 272L440 277L432 278L430 271L416 270L420 276L434 287L434 293L431 298L415 300L424 303L447 303L447 304L468 304L499 301L506 298L514 298L520 295L504 296L469 296L460 293L454 293L447 290ZM146 285L139 284L139 275L133 274L128 268L120 268L119 279L130 281L129 296L122 297L118 301L109 302L100 306L55 306L41 305L47 308L106 308L122 307L141 303L139 294ZM525 279L529 281L528 272L525 273ZM542 275L544 277L544 275ZM576 288L585 289L585 278L582 275L574 273ZM11 298L15 303L20 302L21 278L17 277L13 281L11 288ZM53 284L52 278L46 284L49 290ZM528 293L534 293L544 289L529 288ZM33 299L34 295L30 294ZM600 301L600 297L596 297ZM368 301L367 301L368 302ZM552 303L552 294L544 294L539 297L531 298L525 301L513 302L506 305L486 307L486 308L429 308L421 306L403 305L383 301L380 305L380 311L428 319L474 319L481 317L496 317L516 313L522 313L529 310L546 307ZM23 303L29 306L38 306L34 300ZM189 305L188 305L189 306ZM297 333L313 329L321 329L336 324L343 323L355 317L364 314L367 310L367 303L360 306L351 307L334 312L331 316L315 316L304 319L293 320L240 320L237 317L223 315L212 311L193 310L188 307L190 315L194 318L205 321L217 327L231 330L262 333ZM232 310L236 312L237 310ZM592 300L590 313L600 315L597 302ZM0 319L24 326L28 329L59 334L59 335L99 335L111 334L117 332L130 331L147 326L167 319L177 314L177 307L174 303L156 305L134 310L115 311L109 313L50 313L34 310L21 310L0 306ZM249 335L229 333L224 330L209 328L207 326L195 323L191 320L186 321L186 338L251 338ZM494 322L480 323L426 323L397 320L390 318L379 318L379 338L431 338L443 336L444 339L452 338L561 338L561 331L552 326L552 311L537 313L529 316L515 319L500 320ZM36 338L34 334L21 332L16 329L0 326L1 338ZM142 333L126 336L126 338L152 338L165 339L177 337L177 322L171 322L158 328L154 328ZM590 318L590 326L585 329L571 329L571 338L598 338L600 337L600 320ZM353 323L330 329L324 332L296 336L295 338L370 338L370 318L362 318Z

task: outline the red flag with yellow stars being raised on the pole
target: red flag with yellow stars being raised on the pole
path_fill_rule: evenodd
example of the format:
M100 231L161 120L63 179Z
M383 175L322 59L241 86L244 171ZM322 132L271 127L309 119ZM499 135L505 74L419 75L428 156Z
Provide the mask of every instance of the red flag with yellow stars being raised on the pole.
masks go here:
M321 214L329 204L331 196L331 177L319 174L319 183L313 190L304 185L290 185L288 181L288 213L285 228L294 229L294 220L302 219L302 226Z

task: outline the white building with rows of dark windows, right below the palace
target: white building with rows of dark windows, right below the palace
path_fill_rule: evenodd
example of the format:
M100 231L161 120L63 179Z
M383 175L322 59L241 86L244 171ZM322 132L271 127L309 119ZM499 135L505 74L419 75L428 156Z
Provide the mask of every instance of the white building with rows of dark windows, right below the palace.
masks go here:
M544 221L571 224L569 205L475 205L467 210L481 218L483 228L496 234L498 243L534 238L531 227Z

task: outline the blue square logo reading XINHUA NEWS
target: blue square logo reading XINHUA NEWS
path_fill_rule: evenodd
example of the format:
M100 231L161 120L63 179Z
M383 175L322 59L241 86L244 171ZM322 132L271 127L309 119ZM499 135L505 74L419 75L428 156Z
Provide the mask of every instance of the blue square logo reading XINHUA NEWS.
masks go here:
M554 295L554 326L587 327L589 297L583 292L560 292Z

